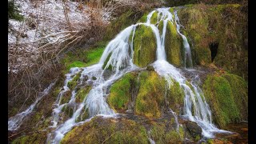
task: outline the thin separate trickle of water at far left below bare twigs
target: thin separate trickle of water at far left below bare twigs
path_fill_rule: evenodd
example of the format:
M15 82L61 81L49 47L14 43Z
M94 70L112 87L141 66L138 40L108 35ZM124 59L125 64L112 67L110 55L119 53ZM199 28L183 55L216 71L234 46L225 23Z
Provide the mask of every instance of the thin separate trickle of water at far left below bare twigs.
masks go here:
M56 80L53 83L50 83L50 86L48 86L45 90L43 90L42 94L38 96L38 98L35 100L32 105L30 105L26 110L22 111L19 114L14 115L14 117L10 117L8 120L8 130L18 130L18 128L22 125L22 122L24 118L26 118L33 110L34 106L38 104L38 102L47 94L49 94L51 88L54 86Z

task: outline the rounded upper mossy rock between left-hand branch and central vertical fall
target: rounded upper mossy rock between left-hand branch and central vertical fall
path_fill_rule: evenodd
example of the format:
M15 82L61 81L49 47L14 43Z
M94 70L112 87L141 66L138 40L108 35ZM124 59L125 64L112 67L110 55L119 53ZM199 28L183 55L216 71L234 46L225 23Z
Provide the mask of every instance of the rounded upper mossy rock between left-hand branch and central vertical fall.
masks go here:
M134 64L145 67L156 59L157 43L149 26L139 25L134 34Z

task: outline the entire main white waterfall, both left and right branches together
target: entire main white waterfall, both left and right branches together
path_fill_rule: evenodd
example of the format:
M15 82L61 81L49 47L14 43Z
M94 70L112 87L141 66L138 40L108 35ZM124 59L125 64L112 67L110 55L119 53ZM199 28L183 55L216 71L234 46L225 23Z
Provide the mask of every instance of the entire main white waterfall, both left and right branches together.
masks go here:
M158 13L157 25L159 22L163 22L162 34L159 33L158 26L150 23L150 19L154 13ZM127 27L125 30L122 30L122 32L118 34L116 38L109 42L98 64L84 68L72 68L70 69L70 73L66 74L66 80L64 82L64 86L62 87L62 91L58 94L58 98L54 104L55 108L53 110L53 121L50 127L55 127L55 129L51 134L48 135L47 143L59 143L64 135L72 129L72 127L78 126L83 122L88 122L96 115L103 115L106 117L115 117L117 115L106 103L106 96L108 95L107 90L113 84L113 82L118 80L118 78L121 78L122 75L139 69L138 66L135 66L133 63L133 41L135 30L138 25L148 26L154 32L154 36L157 41L157 60L151 65L160 76L166 79L166 89L170 88L170 86L173 85L173 82L176 81L186 94L183 108L184 118L197 122L198 126L202 127L202 134L205 137L213 137L214 132L226 132L225 130L218 130L218 128L216 128L211 122L212 119L210 108L206 103L202 90L200 90L196 83L197 81L195 81L196 78L190 83L192 87L188 86L186 84L186 78L182 76L178 68L175 68L166 61L165 40L167 22L171 22L172 24L176 25L177 32L183 39L185 51L183 66L185 66L185 68L192 67L190 45L187 42L186 36L180 32L180 22L177 11L175 11L174 14L171 14L170 8L153 10L150 12L150 14L148 14L145 23L141 22ZM130 36L132 36L131 39ZM110 67L112 70L108 70ZM105 78L104 74L108 71L110 74L107 78ZM68 83L71 82L74 75L78 73L81 73L81 77L79 78L80 85L90 85L92 87L90 92L86 95L82 102L75 102L78 87L76 86L71 92L72 95L70 97L70 101L61 104L63 95L70 90ZM86 82L84 81L85 78L87 79ZM73 114L65 122L62 122L60 119L62 119L61 114L63 113L62 109L64 106L70 106L73 110ZM82 110L88 110L89 118L82 122L78 122L77 120L78 117L81 116ZM177 115L171 109L170 112L174 115L175 122L178 127L179 124ZM150 142L154 143L152 139Z

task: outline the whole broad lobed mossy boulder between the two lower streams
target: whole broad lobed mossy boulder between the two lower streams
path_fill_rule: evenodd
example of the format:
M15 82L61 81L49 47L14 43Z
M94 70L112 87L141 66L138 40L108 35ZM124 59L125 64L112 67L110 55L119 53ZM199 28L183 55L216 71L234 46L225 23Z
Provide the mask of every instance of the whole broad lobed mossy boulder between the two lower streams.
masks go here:
M111 86L107 102L118 113L133 110L134 114L158 118L165 106L170 106L180 114L185 94L178 82L170 88L166 84L152 70L128 73Z

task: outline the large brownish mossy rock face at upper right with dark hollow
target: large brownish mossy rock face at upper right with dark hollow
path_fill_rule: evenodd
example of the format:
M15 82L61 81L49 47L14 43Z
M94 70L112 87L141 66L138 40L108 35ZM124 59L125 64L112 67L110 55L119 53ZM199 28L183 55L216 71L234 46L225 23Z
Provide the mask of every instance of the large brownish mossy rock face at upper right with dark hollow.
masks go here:
M248 19L244 7L200 4L178 10L178 16L196 64L214 62L247 79Z

